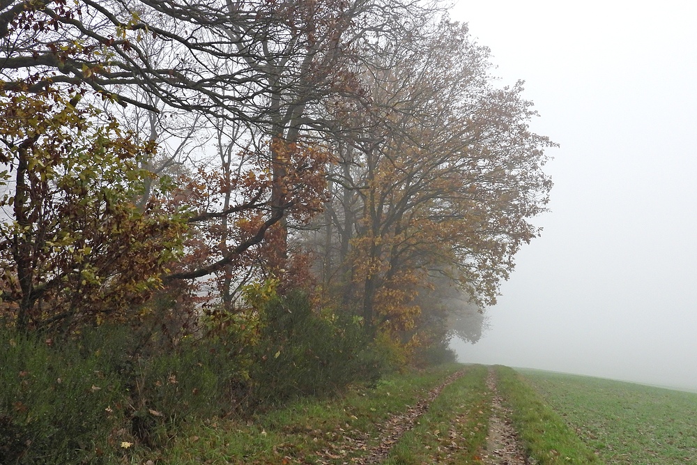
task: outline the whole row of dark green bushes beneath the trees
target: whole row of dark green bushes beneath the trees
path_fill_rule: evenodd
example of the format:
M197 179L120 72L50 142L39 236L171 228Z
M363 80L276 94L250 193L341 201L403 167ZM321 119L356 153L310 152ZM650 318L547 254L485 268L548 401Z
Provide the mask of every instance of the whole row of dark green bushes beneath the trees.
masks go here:
M0 462L115 462L122 442L163 447L183 420L333 395L385 369L359 321L319 315L302 294L273 296L253 321L176 344L146 325L61 342L0 330Z

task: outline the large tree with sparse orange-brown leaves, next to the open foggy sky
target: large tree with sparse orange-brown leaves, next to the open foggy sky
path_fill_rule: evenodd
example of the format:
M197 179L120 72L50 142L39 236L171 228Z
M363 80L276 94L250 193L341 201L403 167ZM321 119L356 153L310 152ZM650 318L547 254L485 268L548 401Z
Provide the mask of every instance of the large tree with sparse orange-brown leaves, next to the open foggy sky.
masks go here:
M436 275L475 303L496 301L514 254L539 232L530 218L545 210L553 144L528 129L535 112L520 82L491 85L488 50L464 25L443 21L375 60L362 78L371 105L349 116L361 125L333 169L325 227L342 260L325 287L338 282L368 326L402 337L414 335L415 298Z

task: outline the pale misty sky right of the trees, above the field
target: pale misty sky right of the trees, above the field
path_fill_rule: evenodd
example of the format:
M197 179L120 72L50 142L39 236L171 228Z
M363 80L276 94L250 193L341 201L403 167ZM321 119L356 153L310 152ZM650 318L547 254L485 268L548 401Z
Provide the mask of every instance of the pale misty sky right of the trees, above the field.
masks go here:
M533 129L551 213L462 361L697 389L697 2L461 0Z

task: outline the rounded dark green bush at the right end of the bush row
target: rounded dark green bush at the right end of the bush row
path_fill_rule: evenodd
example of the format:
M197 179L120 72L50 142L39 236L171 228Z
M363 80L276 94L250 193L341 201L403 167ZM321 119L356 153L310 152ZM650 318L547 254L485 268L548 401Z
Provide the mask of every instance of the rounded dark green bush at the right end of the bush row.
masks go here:
M256 360L250 400L266 406L335 394L354 382L375 383L384 366L358 321L322 317L297 292L266 304L259 344L250 355Z

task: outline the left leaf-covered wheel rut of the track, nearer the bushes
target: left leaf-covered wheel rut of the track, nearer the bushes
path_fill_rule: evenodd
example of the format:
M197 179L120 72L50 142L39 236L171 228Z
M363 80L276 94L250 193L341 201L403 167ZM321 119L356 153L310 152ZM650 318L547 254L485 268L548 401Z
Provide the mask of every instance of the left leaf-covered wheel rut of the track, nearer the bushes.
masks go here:
M441 385L433 388L429 391L428 395L421 399L413 407L410 407L405 413L392 416L385 425L380 428L380 436L378 445L370 448L370 453L356 460L355 464L358 465L368 465L368 464L378 464L387 458L392 445L395 445L402 434L408 432L416 424L416 420L422 416L429 409L431 402L438 397L445 386L449 385L460 376L465 374L466 370L460 370L459 372L453 373L448 376Z

